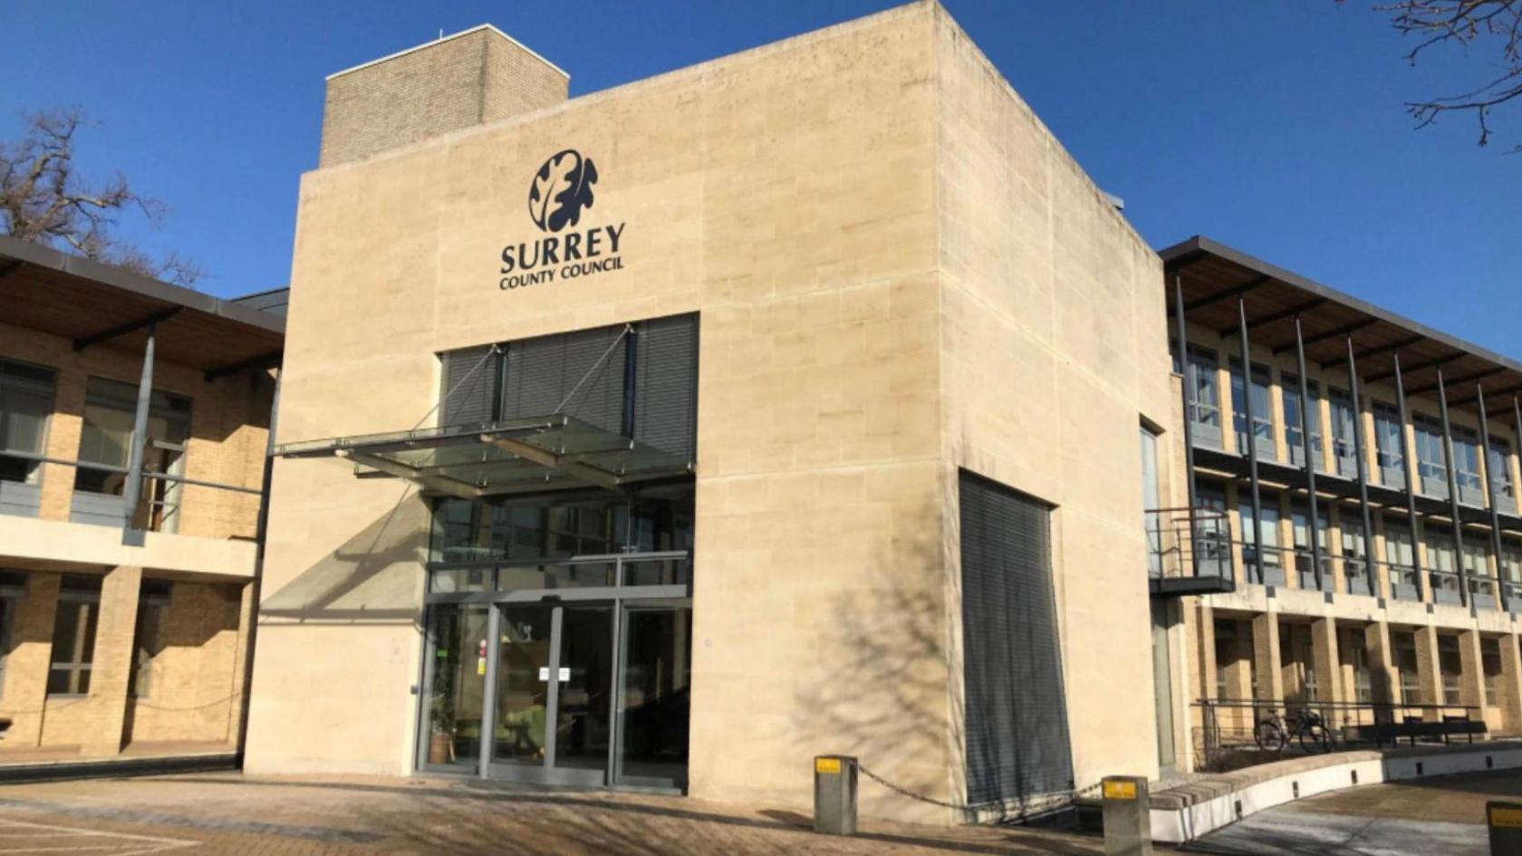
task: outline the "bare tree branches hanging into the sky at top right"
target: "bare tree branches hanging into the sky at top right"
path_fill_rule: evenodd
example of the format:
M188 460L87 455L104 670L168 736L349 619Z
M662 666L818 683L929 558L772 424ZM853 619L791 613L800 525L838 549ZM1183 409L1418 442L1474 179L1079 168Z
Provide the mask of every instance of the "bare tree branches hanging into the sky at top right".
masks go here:
M1403 35L1420 40L1406 53L1412 65L1429 47L1458 44L1467 52L1470 46L1499 46L1501 62L1490 82L1463 94L1406 104L1419 126L1437 122L1444 113L1473 113L1479 145L1489 143L1492 108L1522 97L1522 0L1399 0L1377 3L1374 9L1388 12ZM1522 145L1513 151L1522 151Z

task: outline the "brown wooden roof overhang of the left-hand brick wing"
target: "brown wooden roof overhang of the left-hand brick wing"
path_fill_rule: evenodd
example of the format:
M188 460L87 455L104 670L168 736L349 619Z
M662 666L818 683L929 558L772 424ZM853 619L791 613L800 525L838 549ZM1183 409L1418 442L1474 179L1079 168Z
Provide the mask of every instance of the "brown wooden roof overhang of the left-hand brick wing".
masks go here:
M157 358L209 378L279 364L285 346L279 315L8 236L0 323L137 355L155 324Z

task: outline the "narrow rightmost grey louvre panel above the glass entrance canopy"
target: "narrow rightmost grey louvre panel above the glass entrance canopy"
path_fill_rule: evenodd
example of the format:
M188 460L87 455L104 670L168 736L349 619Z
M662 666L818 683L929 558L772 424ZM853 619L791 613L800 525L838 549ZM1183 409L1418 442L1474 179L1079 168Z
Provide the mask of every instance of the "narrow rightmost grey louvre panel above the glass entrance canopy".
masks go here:
M697 454L697 315L639 324L635 356L635 439Z

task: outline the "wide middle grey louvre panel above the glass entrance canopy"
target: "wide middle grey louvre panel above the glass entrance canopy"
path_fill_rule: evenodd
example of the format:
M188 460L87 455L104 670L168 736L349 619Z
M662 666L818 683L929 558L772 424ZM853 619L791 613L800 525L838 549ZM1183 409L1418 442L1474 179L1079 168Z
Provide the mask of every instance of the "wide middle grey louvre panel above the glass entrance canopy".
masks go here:
M618 324L510 343L501 417L565 413L619 431L624 343L618 338L622 331Z

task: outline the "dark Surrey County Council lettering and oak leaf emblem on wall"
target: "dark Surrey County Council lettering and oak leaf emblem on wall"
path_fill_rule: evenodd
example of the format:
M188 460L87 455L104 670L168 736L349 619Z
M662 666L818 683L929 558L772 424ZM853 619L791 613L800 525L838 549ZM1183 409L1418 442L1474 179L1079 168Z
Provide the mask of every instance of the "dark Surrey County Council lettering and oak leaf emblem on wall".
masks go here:
M592 207L594 184L597 164L575 149L562 149L539 168L528 183L528 218L545 236L502 247L498 288L507 291L624 268L618 254L622 222L566 230L578 225L581 213Z

